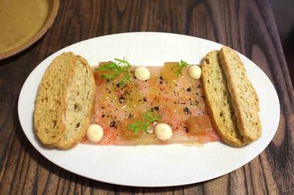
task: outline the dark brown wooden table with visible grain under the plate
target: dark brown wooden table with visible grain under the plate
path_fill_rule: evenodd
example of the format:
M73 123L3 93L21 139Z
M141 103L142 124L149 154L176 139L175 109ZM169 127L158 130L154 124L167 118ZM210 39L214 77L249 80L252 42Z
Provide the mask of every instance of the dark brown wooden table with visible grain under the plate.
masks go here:
M130 31L206 38L253 60L273 82L281 103L278 132L266 150L217 179L165 188L97 182L41 156L18 121L18 94L28 74L67 45ZM55 23L43 38L0 61L0 194L293 194L293 112L293 86L268 1L61 1Z

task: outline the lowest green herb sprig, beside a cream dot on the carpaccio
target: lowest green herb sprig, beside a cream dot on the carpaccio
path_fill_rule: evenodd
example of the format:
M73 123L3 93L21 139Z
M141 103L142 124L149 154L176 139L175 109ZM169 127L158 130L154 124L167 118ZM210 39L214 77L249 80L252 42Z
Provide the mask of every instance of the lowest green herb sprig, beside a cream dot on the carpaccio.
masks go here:
M156 112L148 111L146 113L143 113L143 119L144 121L134 122L131 125L127 126L126 129L133 131L133 133L135 134L139 133L141 130L148 134L149 124L155 121L160 121L160 116L158 116Z

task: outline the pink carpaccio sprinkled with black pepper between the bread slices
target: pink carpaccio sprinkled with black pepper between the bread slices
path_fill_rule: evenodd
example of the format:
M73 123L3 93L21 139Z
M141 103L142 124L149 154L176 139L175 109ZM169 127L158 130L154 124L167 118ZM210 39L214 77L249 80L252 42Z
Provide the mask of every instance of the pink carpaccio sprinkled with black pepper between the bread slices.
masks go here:
M131 67L130 81L119 86L121 77L105 80L102 71L94 70L96 101L92 123L102 126L104 136L99 145L149 145L169 143L207 143L219 140L212 128L200 80L192 79L184 68L176 77L172 66L148 67L151 78L139 81ZM156 112L160 121L134 133L127 128L142 121L143 113ZM158 140L153 130L156 123L167 123L173 130L169 140ZM87 143L87 138L84 139Z

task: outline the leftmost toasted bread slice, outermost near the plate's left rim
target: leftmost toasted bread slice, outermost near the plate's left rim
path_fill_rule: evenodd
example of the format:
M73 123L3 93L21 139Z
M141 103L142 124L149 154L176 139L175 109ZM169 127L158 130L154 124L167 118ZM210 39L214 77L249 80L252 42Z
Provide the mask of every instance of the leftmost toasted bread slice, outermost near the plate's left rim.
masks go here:
M59 143L65 132L62 122L66 106L64 99L74 71L74 55L63 53L51 62L38 88L34 127L40 142L48 147Z

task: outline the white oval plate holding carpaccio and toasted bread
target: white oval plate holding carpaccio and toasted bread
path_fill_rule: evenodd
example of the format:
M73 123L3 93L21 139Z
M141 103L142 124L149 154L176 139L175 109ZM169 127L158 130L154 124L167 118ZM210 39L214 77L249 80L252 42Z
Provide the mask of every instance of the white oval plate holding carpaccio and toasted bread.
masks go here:
M102 182L126 186L177 186L202 182L234 171L260 154L278 128L280 106L276 90L266 74L244 55L248 77L260 100L262 136L241 148L223 143L202 147L174 145L94 146L79 144L60 151L42 147L33 131L33 109L38 85L50 62L62 52L85 57L90 65L114 57L126 57L133 65L163 65L186 60L200 63L207 52L222 45L209 40L170 33L122 33L75 43L55 52L31 72L18 99L18 116L31 144L44 157L64 169Z

